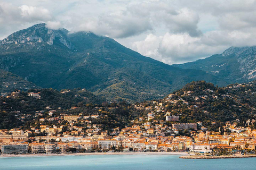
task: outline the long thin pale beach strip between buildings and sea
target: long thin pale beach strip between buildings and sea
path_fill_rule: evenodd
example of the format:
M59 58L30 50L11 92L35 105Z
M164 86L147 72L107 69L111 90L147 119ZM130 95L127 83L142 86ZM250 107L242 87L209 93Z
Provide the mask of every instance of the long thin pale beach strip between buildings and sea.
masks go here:
M83 155L188 155L187 152L92 152L73 154L20 154L20 155L0 155L0 158L7 157L35 157L35 156L83 156Z

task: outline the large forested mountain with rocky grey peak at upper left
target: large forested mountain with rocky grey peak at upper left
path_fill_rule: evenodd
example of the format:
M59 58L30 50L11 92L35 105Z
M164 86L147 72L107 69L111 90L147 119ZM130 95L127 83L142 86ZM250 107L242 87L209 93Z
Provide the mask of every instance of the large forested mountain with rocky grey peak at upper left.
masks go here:
M204 71L142 56L111 38L52 30L46 24L0 41L0 69L42 88L85 88L107 99L129 101L159 98L191 81L226 84Z

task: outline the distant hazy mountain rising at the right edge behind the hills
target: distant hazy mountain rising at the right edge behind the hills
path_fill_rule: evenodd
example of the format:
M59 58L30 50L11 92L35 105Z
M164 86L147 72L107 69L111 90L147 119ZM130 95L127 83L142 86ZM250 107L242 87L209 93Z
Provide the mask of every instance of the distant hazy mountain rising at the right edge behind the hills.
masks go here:
M256 78L256 46L230 47L222 54L173 66L203 70L227 83L249 82Z

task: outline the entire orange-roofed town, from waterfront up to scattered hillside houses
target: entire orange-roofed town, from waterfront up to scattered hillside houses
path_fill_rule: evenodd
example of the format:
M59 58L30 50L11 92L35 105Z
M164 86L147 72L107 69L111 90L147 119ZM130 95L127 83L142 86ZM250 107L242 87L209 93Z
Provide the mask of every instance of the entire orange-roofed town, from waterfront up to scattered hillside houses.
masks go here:
M213 90L205 91L213 93ZM63 91L62 94L67 92ZM186 91L182 96L193 93ZM19 92L12 92L9 98L17 95ZM30 92L27 96L36 100L41 98L39 92ZM194 98L198 105L199 98L204 100L207 96ZM93 112L78 114L72 114L79 111L78 106L72 106L65 113L61 108L53 110L47 106L33 116L17 114L21 121L32 116L33 123L29 128L0 130L2 155L78 152L190 152L219 156L255 154L256 130L250 128L255 123L254 119L247 120L246 126L240 126L239 120L227 121L212 131L205 127L204 122L180 123L182 114L173 114L174 109L170 111L166 103L172 108L175 108L174 105L180 105L178 108L191 105L182 98L177 99L177 94L170 94L164 100L150 101L148 105L133 104L134 109L143 111L143 116L131 120L131 126L111 130L104 130L102 124L95 122L108 117L106 108L110 110L113 106L93 107ZM194 103L193 107L196 108ZM216 124L211 122L212 126Z

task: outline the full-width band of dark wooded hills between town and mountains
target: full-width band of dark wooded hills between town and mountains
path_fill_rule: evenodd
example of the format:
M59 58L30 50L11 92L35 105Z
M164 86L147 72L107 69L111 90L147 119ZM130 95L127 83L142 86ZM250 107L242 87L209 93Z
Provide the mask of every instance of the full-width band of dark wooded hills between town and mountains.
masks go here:
M154 119L149 121L152 123L154 120L165 121L165 115L169 113L179 115L179 123L201 121L209 130L214 131L218 131L226 121L245 126L246 121L253 120L256 115L256 82L230 84L225 88L215 87L205 81L191 82L182 89L174 91L171 98L167 96L154 102L144 101L137 104L128 104L125 101L108 103L79 88L62 90L62 92L53 89L30 91L40 92L41 98L30 97L27 92L0 98L0 129L19 126L28 128L42 117L45 118L43 124L58 124L58 120L47 120L48 112L52 109L56 110L54 116L57 117L61 114L81 114L81 116L98 114L99 118L89 120L93 124L101 124L103 130L131 126L139 117L144 117L143 122L145 122L150 112L156 113ZM46 109L47 106L50 108ZM71 109L73 106L76 108ZM150 110L146 109L148 106L151 107ZM162 107L163 112L157 112L157 109ZM36 113L41 115L35 117ZM166 122L167 125L171 123L174 122ZM62 124L66 125L65 122Z

